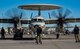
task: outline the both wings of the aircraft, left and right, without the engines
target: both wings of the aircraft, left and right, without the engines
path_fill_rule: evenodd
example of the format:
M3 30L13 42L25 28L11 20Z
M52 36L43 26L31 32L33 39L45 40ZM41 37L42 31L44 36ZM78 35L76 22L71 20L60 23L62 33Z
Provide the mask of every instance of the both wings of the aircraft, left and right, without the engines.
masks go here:
M22 24L29 24L31 19L20 19ZM45 24L56 24L57 19L45 19ZM67 23L76 23L80 22L80 18L66 18L65 22ZM13 19L0 19L0 23L14 23Z

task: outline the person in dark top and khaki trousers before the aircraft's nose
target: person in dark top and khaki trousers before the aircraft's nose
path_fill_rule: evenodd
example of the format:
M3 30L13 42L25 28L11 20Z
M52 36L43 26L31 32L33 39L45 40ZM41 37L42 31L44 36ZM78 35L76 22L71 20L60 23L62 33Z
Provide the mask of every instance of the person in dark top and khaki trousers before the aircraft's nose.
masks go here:
M41 41L42 40L42 37L41 37L42 28L39 25L35 25L35 28L36 28L36 32L37 32L36 43L42 44L42 41Z

